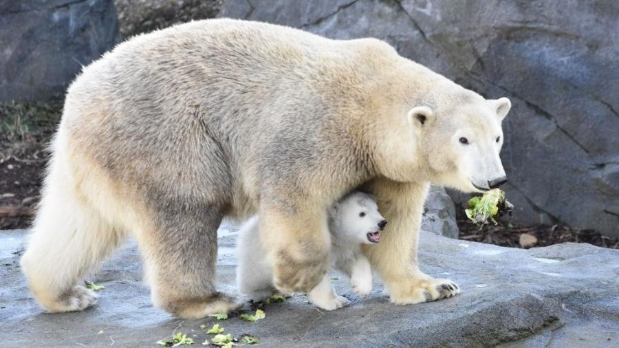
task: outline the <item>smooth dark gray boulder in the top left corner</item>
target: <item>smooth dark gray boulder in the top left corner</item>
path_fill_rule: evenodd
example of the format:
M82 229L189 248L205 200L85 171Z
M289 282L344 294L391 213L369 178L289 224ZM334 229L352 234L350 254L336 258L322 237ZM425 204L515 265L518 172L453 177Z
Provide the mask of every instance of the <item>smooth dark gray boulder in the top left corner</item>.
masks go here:
M0 101L63 98L117 39L112 0L0 0Z

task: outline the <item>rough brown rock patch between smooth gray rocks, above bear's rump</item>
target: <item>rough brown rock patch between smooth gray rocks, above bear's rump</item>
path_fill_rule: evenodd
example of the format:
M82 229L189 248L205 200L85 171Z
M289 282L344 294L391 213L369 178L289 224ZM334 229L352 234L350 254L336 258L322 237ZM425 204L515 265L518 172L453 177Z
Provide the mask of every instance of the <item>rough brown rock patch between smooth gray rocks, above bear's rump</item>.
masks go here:
M124 38L185 23L213 18L222 0L114 0Z

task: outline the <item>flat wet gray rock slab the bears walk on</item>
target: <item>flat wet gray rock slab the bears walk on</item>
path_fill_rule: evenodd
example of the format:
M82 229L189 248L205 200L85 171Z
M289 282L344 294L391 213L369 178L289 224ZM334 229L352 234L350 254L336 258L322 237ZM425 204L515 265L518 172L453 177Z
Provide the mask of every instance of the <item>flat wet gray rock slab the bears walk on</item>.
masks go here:
M31 298L19 269L23 231L0 231L0 342L11 347L153 347L181 331L199 346L199 325L153 308L142 285L140 256L127 243L89 280L104 285L85 312L47 314ZM234 230L219 231L221 290L235 292ZM259 347L617 347L619 252L588 244L530 250L421 236L424 271L462 288L454 298L391 305L376 287L357 298L341 274L334 281L351 305L323 312L295 295L265 307L266 318L218 322L226 332L253 334ZM247 306L243 309L248 310Z

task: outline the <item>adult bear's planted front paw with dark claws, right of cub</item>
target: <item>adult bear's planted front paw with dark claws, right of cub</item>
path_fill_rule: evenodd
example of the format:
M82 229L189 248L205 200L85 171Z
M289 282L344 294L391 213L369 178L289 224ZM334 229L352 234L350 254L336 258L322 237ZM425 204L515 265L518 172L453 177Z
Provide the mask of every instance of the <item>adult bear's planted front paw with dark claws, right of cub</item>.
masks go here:
M391 302L399 305L436 301L460 292L460 288L453 281L430 277L391 282L388 289Z

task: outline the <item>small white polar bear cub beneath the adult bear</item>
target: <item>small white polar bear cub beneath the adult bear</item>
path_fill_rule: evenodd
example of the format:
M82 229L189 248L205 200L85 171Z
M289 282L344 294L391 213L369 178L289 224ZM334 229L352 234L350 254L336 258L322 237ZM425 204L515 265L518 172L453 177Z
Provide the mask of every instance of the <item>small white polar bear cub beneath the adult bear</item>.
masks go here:
M253 301L262 301L275 290L273 266L264 257L267 250L260 240L258 219L254 216L241 227L237 242L237 286L239 292ZM367 296L372 290L372 270L361 252L361 245L380 242L380 231L387 226L387 221L378 213L376 199L360 192L347 195L329 209L328 225L333 267L350 277L358 296ZM346 298L335 293L329 274L325 274L308 295L314 305L326 310L348 304Z

